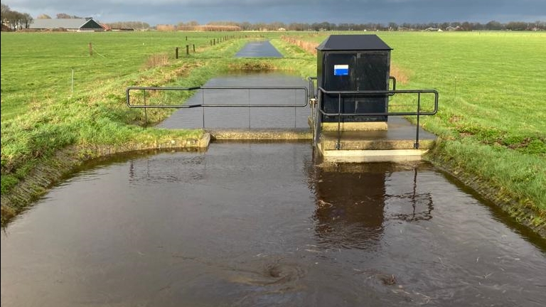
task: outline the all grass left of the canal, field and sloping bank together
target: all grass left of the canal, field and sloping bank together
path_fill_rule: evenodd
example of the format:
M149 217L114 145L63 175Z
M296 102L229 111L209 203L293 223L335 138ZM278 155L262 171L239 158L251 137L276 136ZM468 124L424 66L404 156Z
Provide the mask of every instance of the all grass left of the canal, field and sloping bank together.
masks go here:
M174 48L185 44L191 54L176 59ZM127 108L124 90L203 85L229 69L225 55L240 45L225 33L2 32L2 225L90 158L200 146L203 131L141 126L144 112ZM172 111L149 110L147 119L159 122Z

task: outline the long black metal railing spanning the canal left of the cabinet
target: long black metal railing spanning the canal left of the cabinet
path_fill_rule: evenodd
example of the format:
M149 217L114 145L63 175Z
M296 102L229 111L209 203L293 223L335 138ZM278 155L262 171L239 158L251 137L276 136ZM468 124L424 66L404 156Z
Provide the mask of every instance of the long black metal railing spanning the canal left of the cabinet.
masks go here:
M194 91L201 90L203 92L203 98L200 104L146 104L146 90L149 91ZM205 90L294 90L303 91L303 102L301 104L208 104L205 103ZM132 104L131 92L143 91L144 92L144 104ZM148 122L146 109L161 108L161 109L190 109L195 107L203 108L203 129L205 128L205 107L281 107L281 108L300 108L307 107L309 102L309 90L307 87L222 87L222 86L203 86L203 87L127 87L125 91L127 95L127 107L144 109L145 122ZM294 98L294 102L296 99Z

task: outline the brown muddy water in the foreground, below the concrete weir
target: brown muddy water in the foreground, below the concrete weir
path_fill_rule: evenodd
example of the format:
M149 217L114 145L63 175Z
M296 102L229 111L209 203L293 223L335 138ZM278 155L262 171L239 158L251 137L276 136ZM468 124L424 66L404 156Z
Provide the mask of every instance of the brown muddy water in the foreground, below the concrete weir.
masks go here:
M546 247L426 163L212 144L77 173L1 235L1 306L544 306Z

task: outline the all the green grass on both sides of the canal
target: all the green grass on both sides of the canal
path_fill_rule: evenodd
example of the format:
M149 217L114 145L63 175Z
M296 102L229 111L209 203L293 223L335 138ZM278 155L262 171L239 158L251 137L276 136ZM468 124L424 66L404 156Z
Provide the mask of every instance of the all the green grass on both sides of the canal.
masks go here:
M200 136L202 131L141 128L142 112L124 105L129 85L202 85L237 68L315 75L315 56L280 36L318 44L328 34L261 33L285 58L235 60L232 55L245 43L240 38L252 33L3 32L1 193L9 194L43 159L67 146ZM545 223L546 33L378 35L394 48L392 64L407 79L398 89L440 93L439 114L422 121L441 136L432 160L481 178L537 212L535 224ZM226 36L234 37L224 41ZM186 55L186 45L193 44L197 53ZM158 121L167 114L148 116ZM4 220L4 209L2 215Z

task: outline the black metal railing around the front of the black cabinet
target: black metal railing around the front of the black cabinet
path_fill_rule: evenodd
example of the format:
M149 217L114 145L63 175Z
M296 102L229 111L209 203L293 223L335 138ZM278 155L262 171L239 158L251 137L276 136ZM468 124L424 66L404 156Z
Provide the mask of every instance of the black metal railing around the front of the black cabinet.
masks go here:
M311 82L311 80L310 80ZM437 90L366 90L366 91L327 91L322 87L317 88L318 97L316 98L316 106L314 107L314 144L319 144L321 134L322 114L325 117L337 117L338 119L338 138L336 149L341 149L341 118L342 117L382 117L382 116L417 116L417 132L415 136L414 149L419 149L419 117L423 115L434 115L438 112L438 92ZM365 112L365 113L342 113L341 101L342 97L363 97L363 96L394 96L397 94L417 94L417 111L415 112ZM434 109L429 112L421 111L421 95L434 95ZM328 113L323 110L322 97L324 95L338 96L338 112ZM312 106L313 107L313 106ZM318 112L317 112L318 110Z

